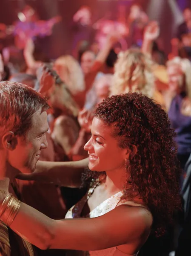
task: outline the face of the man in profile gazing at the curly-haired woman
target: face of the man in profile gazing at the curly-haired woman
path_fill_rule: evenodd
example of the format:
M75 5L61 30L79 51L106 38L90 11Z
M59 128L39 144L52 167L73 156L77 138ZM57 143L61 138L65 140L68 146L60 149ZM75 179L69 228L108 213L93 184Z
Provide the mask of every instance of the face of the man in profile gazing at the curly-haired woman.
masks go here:
M9 163L21 172L34 172L42 149L47 148L47 113L41 109L33 114L32 125L25 136L17 138L16 146L9 150Z

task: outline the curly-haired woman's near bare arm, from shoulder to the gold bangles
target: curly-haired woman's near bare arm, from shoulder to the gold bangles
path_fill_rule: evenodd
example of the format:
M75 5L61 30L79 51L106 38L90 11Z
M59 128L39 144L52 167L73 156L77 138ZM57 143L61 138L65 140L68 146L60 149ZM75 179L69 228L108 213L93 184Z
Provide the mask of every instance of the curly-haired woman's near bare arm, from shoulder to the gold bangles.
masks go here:
M151 219L143 207L121 205L97 218L52 220L22 203L10 227L41 249L102 250L143 242Z

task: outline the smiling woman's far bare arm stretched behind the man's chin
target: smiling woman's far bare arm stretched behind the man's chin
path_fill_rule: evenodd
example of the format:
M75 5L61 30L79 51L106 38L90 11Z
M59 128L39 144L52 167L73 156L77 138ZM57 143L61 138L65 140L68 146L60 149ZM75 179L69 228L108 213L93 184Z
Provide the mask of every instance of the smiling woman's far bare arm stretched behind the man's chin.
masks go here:
M59 186L80 187L81 174L88 167L88 163L88 158L75 162L38 161L33 173L20 173L17 178L50 182Z

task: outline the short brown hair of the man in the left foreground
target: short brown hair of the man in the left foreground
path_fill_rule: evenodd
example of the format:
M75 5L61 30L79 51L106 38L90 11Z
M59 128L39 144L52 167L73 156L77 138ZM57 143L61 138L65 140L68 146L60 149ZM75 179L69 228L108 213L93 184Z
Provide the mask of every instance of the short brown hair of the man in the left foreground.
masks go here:
M0 136L6 131L25 135L31 128L32 115L48 108L47 100L33 88L12 81L0 82Z

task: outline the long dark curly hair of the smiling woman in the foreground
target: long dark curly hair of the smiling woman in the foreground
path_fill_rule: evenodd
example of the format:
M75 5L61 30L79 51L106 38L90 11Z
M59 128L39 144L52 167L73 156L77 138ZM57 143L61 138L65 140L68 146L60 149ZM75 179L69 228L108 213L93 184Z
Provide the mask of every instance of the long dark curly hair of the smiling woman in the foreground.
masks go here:
M134 200L138 194L143 198L153 215L153 228L160 235L181 205L181 169L167 113L147 96L127 93L104 99L95 117L114 127L120 147L137 147L137 153L130 154L128 160L131 178L124 197Z

